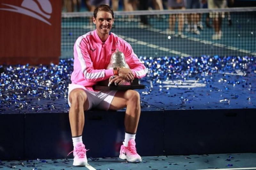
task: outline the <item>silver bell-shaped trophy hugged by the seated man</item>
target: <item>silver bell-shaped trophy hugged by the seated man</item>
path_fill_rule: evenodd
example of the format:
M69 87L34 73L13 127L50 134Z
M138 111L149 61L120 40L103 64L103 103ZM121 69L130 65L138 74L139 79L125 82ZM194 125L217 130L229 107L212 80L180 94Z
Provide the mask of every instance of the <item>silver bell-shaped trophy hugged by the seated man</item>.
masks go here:
M113 69L114 67L130 68L125 61L124 53L122 53L121 51L117 50L111 55L111 59L107 66L107 69ZM131 85L131 83L128 81L125 81L122 85Z

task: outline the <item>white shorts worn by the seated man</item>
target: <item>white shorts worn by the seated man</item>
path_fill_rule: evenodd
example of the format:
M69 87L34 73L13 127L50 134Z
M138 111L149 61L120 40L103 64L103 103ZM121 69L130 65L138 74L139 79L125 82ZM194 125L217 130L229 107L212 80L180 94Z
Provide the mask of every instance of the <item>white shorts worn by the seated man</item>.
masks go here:
M89 101L89 107L87 110L90 110L91 108L97 107L102 110L108 110L109 106L114 99L114 96L117 91L99 91L99 92L93 92L90 90L87 90L82 85L76 85L76 84L69 84L68 85L68 105L71 106L71 103L69 101L69 93L74 89L84 89L87 95L87 99Z

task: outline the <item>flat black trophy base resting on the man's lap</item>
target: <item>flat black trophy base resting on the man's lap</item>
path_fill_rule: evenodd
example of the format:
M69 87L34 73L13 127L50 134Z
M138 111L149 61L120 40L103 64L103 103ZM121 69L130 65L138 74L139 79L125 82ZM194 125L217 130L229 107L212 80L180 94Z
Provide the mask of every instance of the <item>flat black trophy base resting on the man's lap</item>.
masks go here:
M134 78L131 85L115 85L114 83L108 86L108 80L100 81L97 85L94 85L95 90L133 90L133 89L145 89L145 85L139 84L139 79Z

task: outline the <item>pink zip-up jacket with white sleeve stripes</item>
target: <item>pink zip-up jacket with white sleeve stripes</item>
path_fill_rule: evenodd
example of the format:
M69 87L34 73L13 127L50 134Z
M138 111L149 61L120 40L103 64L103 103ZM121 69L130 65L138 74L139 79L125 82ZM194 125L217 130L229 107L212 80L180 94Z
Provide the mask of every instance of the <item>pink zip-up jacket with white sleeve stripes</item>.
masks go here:
M93 90L98 81L114 75L113 69L106 69L113 52L124 53L125 61L136 78L146 75L146 67L134 54L131 45L114 33L109 33L105 42L100 40L96 30L80 36L74 45L74 71L71 74L72 84L83 85Z

